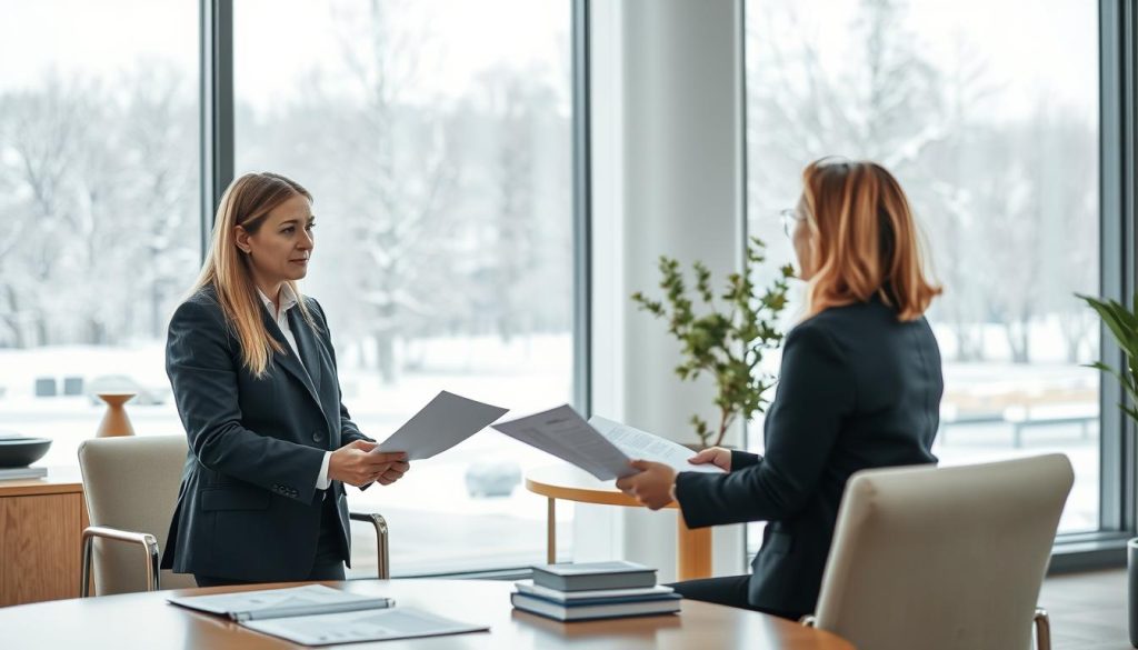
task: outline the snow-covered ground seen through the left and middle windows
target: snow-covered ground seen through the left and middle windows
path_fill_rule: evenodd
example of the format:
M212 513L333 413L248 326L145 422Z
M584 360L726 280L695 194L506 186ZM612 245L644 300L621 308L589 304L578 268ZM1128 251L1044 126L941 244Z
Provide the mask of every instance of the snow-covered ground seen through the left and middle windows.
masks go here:
M407 351L422 369L384 386L374 371L341 367L345 403L364 433L382 439L438 390L446 389L510 408L537 411L569 401L570 339L563 336L517 339L437 340ZM352 354L341 355L351 359ZM160 344L132 348L59 347L0 351L0 430L51 438L36 464L74 466L82 441L93 436L104 406L86 396L34 397L38 377L127 375L147 387L168 386ZM168 388L167 388L168 392ZM138 435L182 435L171 402L133 405L127 413ZM472 497L467 470L506 459L523 472L554 459L493 429L435 459L414 463L403 480L366 492L348 491L351 507L380 512L393 530L391 561L397 574L523 566L545 560L545 499L518 485L510 496ZM559 550L571 552L572 508L558 508ZM358 570L373 570L373 534L355 532ZM371 552L370 552L371 551Z

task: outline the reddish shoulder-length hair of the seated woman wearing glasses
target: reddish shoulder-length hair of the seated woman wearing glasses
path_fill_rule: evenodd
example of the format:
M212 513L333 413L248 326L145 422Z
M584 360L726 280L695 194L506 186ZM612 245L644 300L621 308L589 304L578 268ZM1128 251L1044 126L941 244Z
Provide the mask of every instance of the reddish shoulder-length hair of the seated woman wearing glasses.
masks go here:
M807 318L874 295L901 321L921 318L942 288L925 278L917 231L900 183L872 162L823 158L802 172L814 275Z

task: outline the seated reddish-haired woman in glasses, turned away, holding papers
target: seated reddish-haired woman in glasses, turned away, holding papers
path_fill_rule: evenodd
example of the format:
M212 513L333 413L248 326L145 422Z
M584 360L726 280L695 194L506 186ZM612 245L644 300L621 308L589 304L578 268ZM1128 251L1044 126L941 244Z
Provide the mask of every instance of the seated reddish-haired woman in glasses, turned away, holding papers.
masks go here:
M881 165L822 159L784 215L806 315L786 336L765 425L766 455L714 447L693 463L726 474L642 471L618 487L687 526L768 521L750 576L677 583L685 598L798 618L814 611L846 482L877 467L934 463L943 393L924 312L940 288L922 269L905 192Z

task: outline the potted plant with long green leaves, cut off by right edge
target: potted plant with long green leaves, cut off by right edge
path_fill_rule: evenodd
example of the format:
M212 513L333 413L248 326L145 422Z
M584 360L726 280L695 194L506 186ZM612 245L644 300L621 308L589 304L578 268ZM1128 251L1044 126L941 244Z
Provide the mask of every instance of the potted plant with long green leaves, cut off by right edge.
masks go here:
M1108 372L1119 380L1125 393L1119 408L1132 421L1138 422L1138 294L1135 294L1130 308L1118 301L1075 295L1086 301L1098 313L1098 318L1103 319L1106 329L1111 331L1122 354L1125 355L1127 362L1124 371L1115 370L1102 361L1088 365ZM1127 566L1130 578L1130 644L1138 648L1138 537L1127 543Z

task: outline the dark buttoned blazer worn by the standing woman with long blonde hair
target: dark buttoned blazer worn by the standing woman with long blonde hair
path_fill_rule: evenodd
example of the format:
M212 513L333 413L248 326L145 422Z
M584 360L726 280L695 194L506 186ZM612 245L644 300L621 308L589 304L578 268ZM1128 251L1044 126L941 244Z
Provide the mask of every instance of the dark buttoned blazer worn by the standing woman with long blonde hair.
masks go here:
M166 373L189 453L163 568L257 582L303 579L312 569L324 452L370 438L340 402L324 312L304 299L318 330L299 307L288 312L304 365L263 310L265 327L284 352L272 356L261 379L244 367L213 288L174 312ZM344 485L332 482L328 497L336 499L343 548L351 549Z

